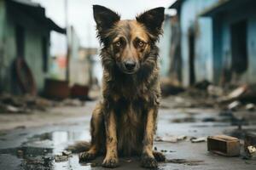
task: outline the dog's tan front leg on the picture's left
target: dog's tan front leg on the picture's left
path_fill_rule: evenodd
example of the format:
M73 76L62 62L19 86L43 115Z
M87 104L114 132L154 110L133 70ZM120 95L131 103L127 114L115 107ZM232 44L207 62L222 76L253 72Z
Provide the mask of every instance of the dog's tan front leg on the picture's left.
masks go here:
M116 136L116 115L113 111L109 111L105 115L106 127L106 157L102 163L102 167L118 167L118 150Z

